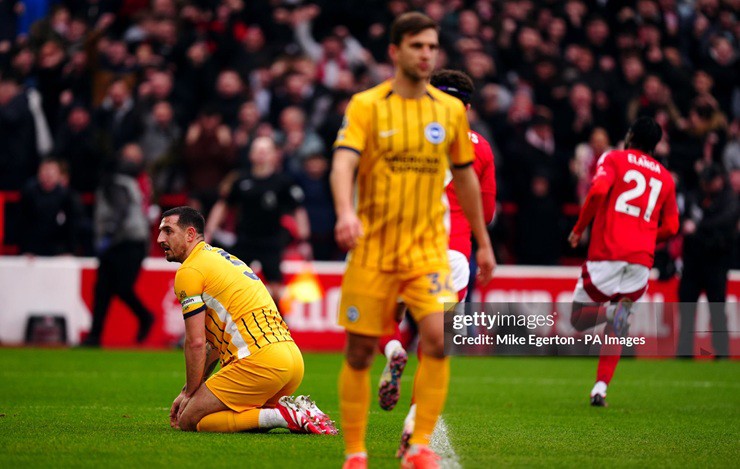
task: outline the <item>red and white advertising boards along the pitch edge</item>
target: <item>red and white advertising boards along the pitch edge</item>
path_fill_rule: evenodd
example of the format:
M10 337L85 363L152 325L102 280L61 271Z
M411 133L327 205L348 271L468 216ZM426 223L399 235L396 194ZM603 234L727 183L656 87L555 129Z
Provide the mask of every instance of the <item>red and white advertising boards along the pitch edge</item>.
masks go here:
M157 316L157 322L146 345L166 347L176 344L184 332L182 313L173 292L174 274L179 264L161 258L149 258L136 284L142 301ZM286 281L306 269L303 262L283 263ZM314 262L310 265L323 290L323 298L313 303L293 302L284 316L296 342L305 350L338 351L343 346L342 330L336 326L337 306L344 263ZM0 343L22 344L28 318L36 315L64 317L68 341L79 343L91 325L93 290L97 275L95 259L73 257L29 258L0 257ZM573 287L580 275L578 267L501 266L494 281L477 289L473 301L570 303ZM678 280L657 281L652 278L646 299L654 303L677 301ZM727 295L728 327L740 331L740 271L730 274ZM630 329L632 334L649 334L661 343L660 348L673 350L677 313L667 310L658 323L641 323L638 315ZM103 345L128 347L134 344L137 322L118 300L114 299L106 322ZM709 314L699 308L697 318L697 353L702 347L711 350ZM544 335L573 335L567 318L560 317ZM740 355L740 333L730 334L731 354ZM655 346L651 350L655 350ZM638 351L639 353L639 351ZM649 352L646 352L649 354ZM661 353L662 354L662 353Z

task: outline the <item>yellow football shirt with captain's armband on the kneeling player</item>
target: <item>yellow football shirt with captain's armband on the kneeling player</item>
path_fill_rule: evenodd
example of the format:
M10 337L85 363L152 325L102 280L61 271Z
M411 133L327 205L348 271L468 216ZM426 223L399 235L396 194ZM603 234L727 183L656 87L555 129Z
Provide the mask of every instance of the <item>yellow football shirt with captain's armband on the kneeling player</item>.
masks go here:
M259 277L223 249L198 243L177 269L175 295L186 319L207 315L206 340L221 352L221 366L293 340Z

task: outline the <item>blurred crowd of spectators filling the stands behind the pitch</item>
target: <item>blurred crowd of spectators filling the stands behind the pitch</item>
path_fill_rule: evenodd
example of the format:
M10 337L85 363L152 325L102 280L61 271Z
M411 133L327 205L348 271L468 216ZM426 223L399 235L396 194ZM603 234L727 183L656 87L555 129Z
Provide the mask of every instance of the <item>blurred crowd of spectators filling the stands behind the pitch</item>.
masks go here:
M303 186L314 252L337 259L331 146L351 94L392 73L388 26L409 10L441 25L440 67L476 84L471 126L496 155L500 261L573 254L563 207L582 201L599 155L637 116L663 127L656 157L679 205L712 165L740 194L740 11L729 0L5 0L0 191L51 193L53 168L39 170L51 158L59 197L91 193L136 143L154 200L182 193L207 212L266 136ZM6 240L17 243L14 225ZM82 244L54 252L87 252L84 235L64 233Z

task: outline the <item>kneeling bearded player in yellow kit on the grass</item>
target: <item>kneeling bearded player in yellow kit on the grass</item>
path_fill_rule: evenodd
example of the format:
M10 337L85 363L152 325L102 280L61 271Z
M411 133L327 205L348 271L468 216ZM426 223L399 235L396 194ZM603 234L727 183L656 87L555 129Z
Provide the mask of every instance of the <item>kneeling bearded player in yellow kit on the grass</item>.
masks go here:
M187 381L172 403L170 425L336 434L311 399L291 396L303 379L303 357L262 281L244 262L206 244L204 225L190 207L164 212L159 225L165 257L182 263L175 295L185 319ZM219 359L221 369L209 377Z

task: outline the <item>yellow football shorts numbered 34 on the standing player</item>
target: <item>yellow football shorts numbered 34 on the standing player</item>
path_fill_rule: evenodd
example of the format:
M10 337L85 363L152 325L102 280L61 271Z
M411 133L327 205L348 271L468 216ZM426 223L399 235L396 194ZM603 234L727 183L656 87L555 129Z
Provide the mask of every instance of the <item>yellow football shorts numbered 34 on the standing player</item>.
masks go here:
M417 323L429 314L441 313L445 303L457 302L450 266L381 272L350 263L342 279L338 323L354 334L392 334L399 297Z

